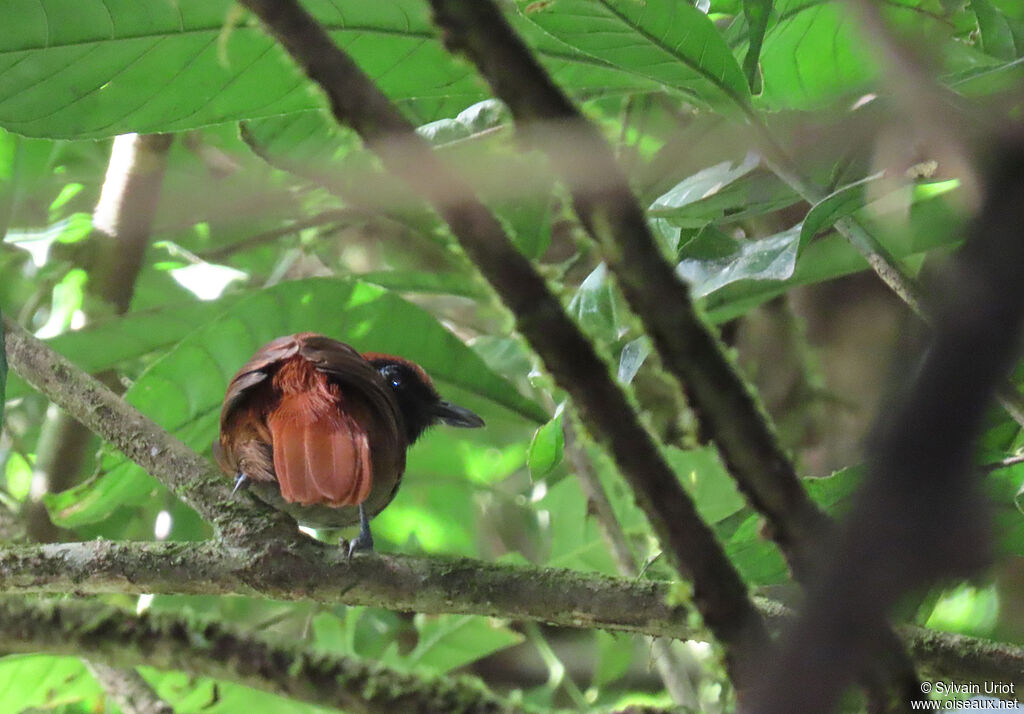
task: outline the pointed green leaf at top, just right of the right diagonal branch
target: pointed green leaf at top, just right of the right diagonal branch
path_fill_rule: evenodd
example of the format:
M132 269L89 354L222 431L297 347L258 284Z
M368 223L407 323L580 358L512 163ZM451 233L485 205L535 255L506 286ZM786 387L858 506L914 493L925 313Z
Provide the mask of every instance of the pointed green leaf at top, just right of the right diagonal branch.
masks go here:
M735 112L750 88L715 25L675 0L517 0L530 22L595 60Z

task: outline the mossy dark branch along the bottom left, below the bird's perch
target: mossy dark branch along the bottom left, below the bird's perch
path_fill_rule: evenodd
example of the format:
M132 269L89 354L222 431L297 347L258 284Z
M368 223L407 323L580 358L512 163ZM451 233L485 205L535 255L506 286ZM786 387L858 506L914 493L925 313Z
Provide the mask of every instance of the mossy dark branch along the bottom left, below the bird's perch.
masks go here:
M525 711L464 677L423 677L242 634L216 622L132 615L93 603L0 598L0 637L7 650L180 670L353 714Z

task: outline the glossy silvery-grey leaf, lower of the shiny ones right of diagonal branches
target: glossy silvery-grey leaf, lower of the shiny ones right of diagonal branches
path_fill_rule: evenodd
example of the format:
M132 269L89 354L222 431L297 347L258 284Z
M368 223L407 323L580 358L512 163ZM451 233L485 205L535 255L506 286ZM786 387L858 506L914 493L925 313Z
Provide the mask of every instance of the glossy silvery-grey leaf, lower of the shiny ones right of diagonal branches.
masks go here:
M731 252L721 254L730 248ZM689 284L694 297L703 297L741 280L790 279L797 266L799 248L799 226L756 241L738 241L706 228L681 251L683 260L677 272ZM712 249L715 252L708 255L706 251Z

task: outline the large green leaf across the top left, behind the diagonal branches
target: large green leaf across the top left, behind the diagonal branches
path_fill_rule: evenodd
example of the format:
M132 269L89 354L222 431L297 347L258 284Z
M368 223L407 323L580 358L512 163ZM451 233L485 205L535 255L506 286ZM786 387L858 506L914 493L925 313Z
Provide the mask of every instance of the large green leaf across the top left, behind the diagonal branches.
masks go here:
M421 0L304 3L338 44L419 121L486 97L435 37ZM0 7L0 126L31 136L182 131L319 109L285 52L229 0L82 0ZM546 56L574 91L650 84L569 48Z

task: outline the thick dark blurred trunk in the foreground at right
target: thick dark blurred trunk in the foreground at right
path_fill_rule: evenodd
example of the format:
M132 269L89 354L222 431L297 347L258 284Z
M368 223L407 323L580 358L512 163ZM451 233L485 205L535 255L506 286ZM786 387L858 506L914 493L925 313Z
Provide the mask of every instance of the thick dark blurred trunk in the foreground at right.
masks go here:
M968 575L988 555L973 450L1024 322L1024 140L996 151L981 213L936 291L931 346L877 424L867 480L752 712L828 711L872 657L871 633L900 596ZM819 656L825 648L830 657Z

